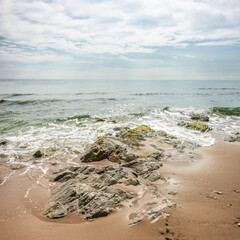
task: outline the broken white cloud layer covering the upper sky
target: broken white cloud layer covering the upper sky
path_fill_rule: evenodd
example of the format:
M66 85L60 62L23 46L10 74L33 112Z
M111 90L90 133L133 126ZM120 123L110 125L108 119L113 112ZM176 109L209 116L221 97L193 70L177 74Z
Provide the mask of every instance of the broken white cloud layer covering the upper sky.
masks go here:
M0 6L1 62L96 64L120 56L137 63L139 54L155 59L162 48L240 42L238 0L0 0Z

